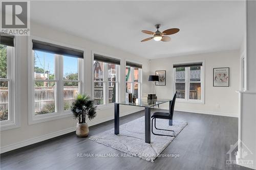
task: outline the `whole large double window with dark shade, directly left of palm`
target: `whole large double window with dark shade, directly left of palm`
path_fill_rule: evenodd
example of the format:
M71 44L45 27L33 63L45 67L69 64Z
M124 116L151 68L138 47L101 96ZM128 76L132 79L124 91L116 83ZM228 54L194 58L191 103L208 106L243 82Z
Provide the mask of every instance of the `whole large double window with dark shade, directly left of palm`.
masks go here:
M70 115L70 105L82 93L83 51L32 40L29 123Z

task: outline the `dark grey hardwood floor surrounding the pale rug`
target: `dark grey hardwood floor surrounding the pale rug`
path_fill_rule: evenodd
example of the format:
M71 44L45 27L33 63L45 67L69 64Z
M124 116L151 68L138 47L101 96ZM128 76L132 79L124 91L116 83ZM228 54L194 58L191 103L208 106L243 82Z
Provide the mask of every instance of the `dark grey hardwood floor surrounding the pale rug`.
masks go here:
M143 115L142 111L121 117L120 125ZM176 111L174 119L185 121L188 126L162 154L179 154L177 158L158 157L152 163L137 157L120 157L122 152L88 138L78 138L72 132L1 154L1 169L249 169L226 166L230 144L238 140L238 118ZM113 120L92 126L90 135L113 127ZM77 157L91 153L94 157Z

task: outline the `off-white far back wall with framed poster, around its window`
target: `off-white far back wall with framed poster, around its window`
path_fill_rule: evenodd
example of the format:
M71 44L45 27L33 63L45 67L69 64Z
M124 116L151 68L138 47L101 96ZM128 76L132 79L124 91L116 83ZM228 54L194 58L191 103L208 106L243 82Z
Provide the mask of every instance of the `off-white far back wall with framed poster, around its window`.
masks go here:
M239 90L239 58L239 51L226 51L151 60L150 68L152 74L155 74L156 70L166 70L166 86L156 86L156 94L158 98L162 99L173 97L174 63L204 60L205 104L176 102L175 110L224 116L238 116L239 107L236 90ZM229 67L229 87L212 86L212 69L214 67ZM163 108L168 109L168 106L165 105Z

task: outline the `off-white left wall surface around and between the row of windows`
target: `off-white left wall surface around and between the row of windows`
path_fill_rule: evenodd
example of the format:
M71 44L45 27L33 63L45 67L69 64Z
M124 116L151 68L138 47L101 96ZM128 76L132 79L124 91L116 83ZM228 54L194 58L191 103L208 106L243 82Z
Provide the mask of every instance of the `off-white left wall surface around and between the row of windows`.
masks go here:
M86 48L86 89L87 94L92 93L92 51L108 54L121 58L120 65L120 98L124 101L125 94L125 59L142 63L142 92L150 91L151 86L148 85L147 78L149 75L149 63L147 59L139 56L117 50L114 47L105 46L88 41L84 38L63 33L60 30L52 30L46 27L31 23L31 35L53 40L60 43L71 44L77 47ZM75 130L76 120L73 117L61 118L50 122L28 125L28 38L21 37L20 46L20 128L1 131L1 152L6 152L18 147L32 144L41 140L45 140L57 135L65 134ZM138 111L137 107L127 108L120 107L120 115L130 114ZM97 111L97 117L90 122L90 125L104 122L112 119L114 115L114 106ZM114 126L114 125L113 125Z

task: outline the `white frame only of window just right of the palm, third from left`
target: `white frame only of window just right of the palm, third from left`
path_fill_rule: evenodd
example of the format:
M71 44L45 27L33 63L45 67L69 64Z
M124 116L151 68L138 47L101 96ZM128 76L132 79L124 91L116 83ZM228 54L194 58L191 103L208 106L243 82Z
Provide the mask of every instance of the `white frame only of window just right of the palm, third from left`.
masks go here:
M109 83L113 81L109 81L108 79L108 63L103 62L103 81L94 81L94 54L98 54L101 56L106 56L110 58L115 58L119 59L118 57L111 56L108 54L103 54L100 52L95 52L92 51L92 99L94 99L94 82L102 82L103 83L103 104L102 105L97 105L98 108L100 109L108 109L108 108L113 108L114 103L109 103ZM116 64L116 101L120 101L120 65Z

